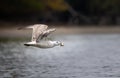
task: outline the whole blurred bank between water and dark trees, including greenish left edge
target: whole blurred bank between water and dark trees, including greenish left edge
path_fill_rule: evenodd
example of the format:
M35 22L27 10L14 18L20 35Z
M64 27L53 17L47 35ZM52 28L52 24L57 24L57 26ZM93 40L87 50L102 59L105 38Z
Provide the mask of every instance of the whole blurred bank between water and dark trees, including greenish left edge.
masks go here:
M32 24L0 24L0 42L30 40L32 30L18 30ZM48 24L49 28L56 28L52 35L82 35L82 34L120 34L120 26L97 25L58 25Z

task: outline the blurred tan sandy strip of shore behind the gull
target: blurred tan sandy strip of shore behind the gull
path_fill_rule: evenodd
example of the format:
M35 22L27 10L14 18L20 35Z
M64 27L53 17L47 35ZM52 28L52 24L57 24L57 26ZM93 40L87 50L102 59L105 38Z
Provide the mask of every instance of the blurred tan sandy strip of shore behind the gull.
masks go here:
M30 37L32 34L32 30L17 30L20 26L5 26L0 27L0 37ZM119 26L111 26L111 27L97 27L97 26L56 26L53 27L56 28L54 35L65 35L65 34L109 34L109 33L120 33L120 27ZM52 26L49 26L49 28L53 28Z

